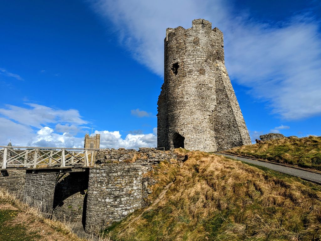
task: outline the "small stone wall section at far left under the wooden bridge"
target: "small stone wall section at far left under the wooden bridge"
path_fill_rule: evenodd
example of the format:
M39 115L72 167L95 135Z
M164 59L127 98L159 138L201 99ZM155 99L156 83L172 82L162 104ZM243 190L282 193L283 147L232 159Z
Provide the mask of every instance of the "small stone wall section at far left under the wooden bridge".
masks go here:
M23 199L25 170L6 170L0 172L0 188L7 190L10 194Z

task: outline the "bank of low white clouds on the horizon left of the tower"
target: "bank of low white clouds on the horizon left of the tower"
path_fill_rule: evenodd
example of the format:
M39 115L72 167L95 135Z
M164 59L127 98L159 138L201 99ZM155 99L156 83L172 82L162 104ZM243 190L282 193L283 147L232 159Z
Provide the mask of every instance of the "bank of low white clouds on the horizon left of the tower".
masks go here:
M7 117L0 117L0 145L7 145L11 139L13 146L83 148L84 137L77 137L76 134L89 127L82 126L87 121L82 119L78 110L28 105L31 108L8 105L6 109L0 109L0 114ZM57 124L52 128L48 123ZM156 147L157 137L153 131L154 134L143 134L141 130L136 130L125 139L119 131L95 131L95 134L100 133L100 148L138 149Z

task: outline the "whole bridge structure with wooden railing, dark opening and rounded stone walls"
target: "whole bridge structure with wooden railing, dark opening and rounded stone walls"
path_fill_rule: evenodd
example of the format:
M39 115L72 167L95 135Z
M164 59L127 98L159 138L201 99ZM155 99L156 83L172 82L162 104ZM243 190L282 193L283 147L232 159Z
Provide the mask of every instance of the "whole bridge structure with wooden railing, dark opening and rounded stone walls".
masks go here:
M184 158L153 148L0 148L0 188L45 215L82 222L88 233L147 205L156 180L144 173Z

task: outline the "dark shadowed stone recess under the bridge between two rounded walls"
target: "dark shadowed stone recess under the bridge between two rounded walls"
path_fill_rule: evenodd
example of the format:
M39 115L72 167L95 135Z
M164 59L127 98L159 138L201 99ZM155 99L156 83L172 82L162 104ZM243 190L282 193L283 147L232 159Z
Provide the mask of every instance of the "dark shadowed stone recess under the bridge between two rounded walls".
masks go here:
M88 176L89 170L57 176L53 201L53 214L57 219L82 221L86 209Z

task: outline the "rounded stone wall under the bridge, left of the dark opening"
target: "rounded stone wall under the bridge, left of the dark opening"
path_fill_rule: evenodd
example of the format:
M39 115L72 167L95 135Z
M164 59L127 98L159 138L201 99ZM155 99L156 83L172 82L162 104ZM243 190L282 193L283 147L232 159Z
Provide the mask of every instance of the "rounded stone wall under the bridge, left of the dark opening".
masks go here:
M31 207L39 208L41 212L51 215L57 173L26 172L23 200Z

